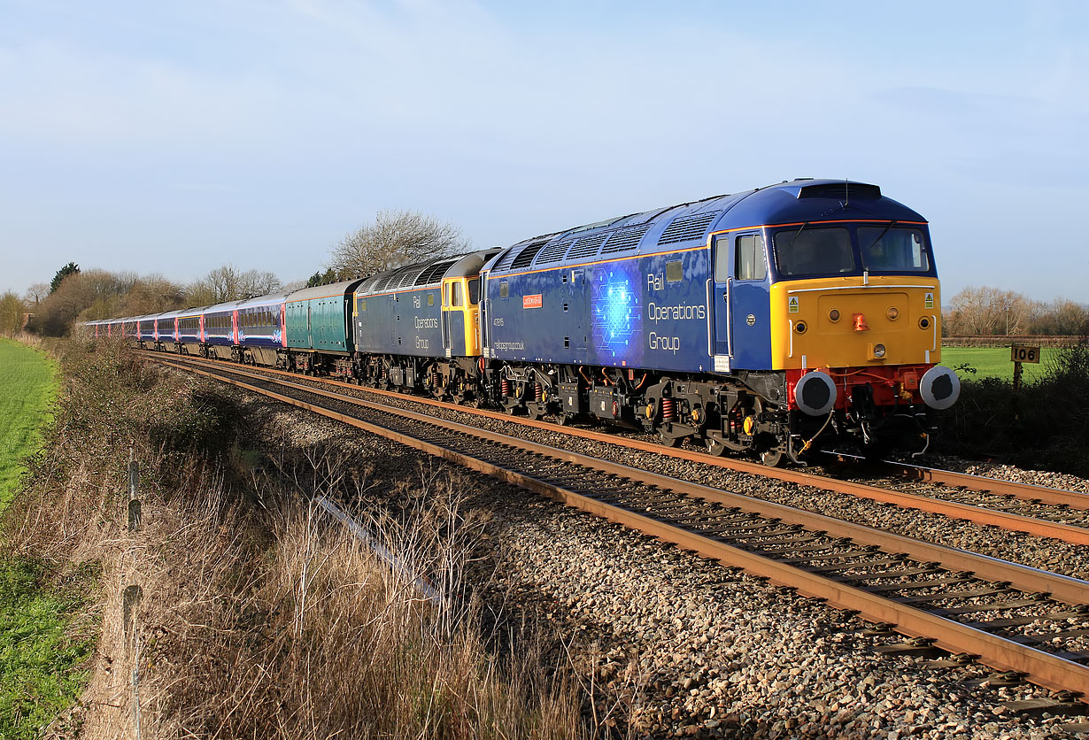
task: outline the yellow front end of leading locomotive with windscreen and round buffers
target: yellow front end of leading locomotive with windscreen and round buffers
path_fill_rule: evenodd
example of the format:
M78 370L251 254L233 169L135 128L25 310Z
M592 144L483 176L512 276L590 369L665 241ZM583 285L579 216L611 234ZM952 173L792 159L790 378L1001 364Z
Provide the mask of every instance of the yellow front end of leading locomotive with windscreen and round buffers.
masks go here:
M771 355L786 379L792 449L829 429L870 452L905 435L925 448L929 409L959 394L956 374L938 365L941 294L926 224L804 223L772 244Z

